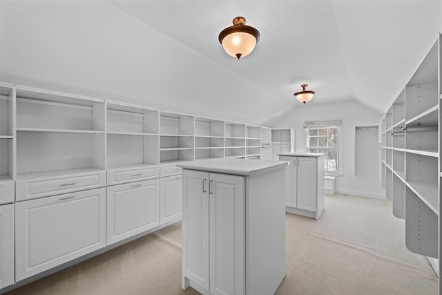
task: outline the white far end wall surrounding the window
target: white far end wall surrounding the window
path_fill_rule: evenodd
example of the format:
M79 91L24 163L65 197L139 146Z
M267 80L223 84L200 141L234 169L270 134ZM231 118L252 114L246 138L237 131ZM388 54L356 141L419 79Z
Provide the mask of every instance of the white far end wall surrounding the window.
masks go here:
M297 103L297 102L294 102ZM338 177L338 193L348 193L356 196L372 198L385 198L385 191L381 188L378 175L372 178L362 178L354 175L355 163L355 127L376 124L382 115L375 113L358 102L336 102L331 104L307 104L298 105L291 113L282 117L274 127L294 128L296 133L296 151L305 151L304 122L342 120L342 135L340 147L342 149L342 177ZM376 139L377 142L377 139ZM370 161L374 165L380 165L378 153L374 153ZM378 171L378 169L376 169Z

